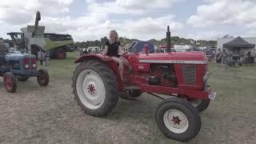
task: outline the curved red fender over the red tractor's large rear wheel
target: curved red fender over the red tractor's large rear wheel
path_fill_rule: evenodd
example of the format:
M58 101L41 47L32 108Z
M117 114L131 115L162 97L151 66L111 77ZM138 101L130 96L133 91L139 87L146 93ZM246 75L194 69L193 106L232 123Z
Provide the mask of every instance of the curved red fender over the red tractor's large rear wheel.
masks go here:
M118 89L123 90L122 79L119 74L117 63L114 62L112 58L102 54L83 54L81 57L77 58L74 63L86 62L90 60L98 60L99 62L103 62L106 66L109 66L110 70L113 71L114 75L116 76L118 82Z

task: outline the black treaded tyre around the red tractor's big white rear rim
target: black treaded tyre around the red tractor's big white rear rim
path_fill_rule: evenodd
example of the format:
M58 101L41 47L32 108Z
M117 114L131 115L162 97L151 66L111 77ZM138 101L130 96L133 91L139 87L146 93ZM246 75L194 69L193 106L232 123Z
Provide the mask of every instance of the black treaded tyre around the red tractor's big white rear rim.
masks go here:
M90 108L84 106L80 98L78 97L76 83L78 75L83 70L93 70L100 76L100 78L102 78L102 82L104 83L106 95L102 106L100 106L98 109L91 110ZM103 62L89 60L87 62L80 63L74 71L74 75L72 78L72 87L74 98L77 100L78 105L82 107L86 114L90 114L95 117L102 117L109 114L118 102L118 83L112 70L110 70L110 68L106 66Z

